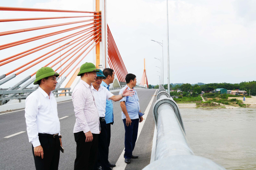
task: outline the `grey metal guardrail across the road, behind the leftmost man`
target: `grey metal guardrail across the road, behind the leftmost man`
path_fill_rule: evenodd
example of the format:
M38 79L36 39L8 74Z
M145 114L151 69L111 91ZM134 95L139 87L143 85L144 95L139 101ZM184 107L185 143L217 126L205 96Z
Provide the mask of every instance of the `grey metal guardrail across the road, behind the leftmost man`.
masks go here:
M4 100L10 100L10 99L19 99L19 103L21 102L21 99L26 99L26 93L31 94L32 92L36 91L37 89L26 89L26 90L10 90L10 91L0 91L0 105L3 105ZM55 90L52 91L56 97L60 94L69 94L71 96L72 92L70 92L71 88L56 88ZM64 93L58 93L58 91L65 91ZM67 92L68 91L68 92ZM7 94L18 94L18 96L12 96L12 97L3 97L4 95Z

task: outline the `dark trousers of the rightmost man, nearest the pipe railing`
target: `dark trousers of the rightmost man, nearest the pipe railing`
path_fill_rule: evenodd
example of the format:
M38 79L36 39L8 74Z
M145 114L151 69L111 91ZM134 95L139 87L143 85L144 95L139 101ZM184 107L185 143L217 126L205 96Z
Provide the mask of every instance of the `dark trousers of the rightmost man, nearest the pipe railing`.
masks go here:
M126 119L123 119L124 125ZM138 135L139 119L131 119L131 125L125 125L125 158L131 159Z

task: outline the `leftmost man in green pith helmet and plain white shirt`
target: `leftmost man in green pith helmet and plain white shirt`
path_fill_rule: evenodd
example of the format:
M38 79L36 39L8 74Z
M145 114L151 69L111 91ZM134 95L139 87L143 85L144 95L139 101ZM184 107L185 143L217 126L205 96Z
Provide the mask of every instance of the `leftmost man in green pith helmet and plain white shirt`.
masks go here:
M58 170L61 133L55 90L58 73L50 67L36 72L38 89L26 98L25 118L36 170Z

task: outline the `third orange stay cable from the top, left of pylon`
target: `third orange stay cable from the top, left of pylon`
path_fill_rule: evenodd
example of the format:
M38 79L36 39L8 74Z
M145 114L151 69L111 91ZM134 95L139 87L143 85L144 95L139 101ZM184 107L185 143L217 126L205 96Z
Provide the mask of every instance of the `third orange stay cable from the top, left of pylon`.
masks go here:
M75 22L70 22L70 23L62 23L62 24L54 24L54 25L49 25L49 26L39 26L39 27L33 27L33 28L5 31L5 32L0 32L0 36L16 34L16 33L26 32L26 31L34 31L34 30L44 29L44 28L52 28L52 27L56 27L56 26L65 26L65 25L76 24L76 23L84 23L84 22L95 21L95 20L100 20L100 19L98 18L98 19L91 19L91 20L82 20L82 21L75 21Z

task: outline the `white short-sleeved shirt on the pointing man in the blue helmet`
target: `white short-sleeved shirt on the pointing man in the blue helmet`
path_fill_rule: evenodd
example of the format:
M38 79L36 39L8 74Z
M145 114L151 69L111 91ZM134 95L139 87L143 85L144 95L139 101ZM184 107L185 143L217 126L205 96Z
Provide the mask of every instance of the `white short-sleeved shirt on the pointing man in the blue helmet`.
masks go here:
M108 91L107 88L103 86L99 86L99 91L97 91L92 86L93 96L95 100L96 107L99 112L99 117L105 117L106 113L106 99L110 100L109 98L113 96L111 92Z

